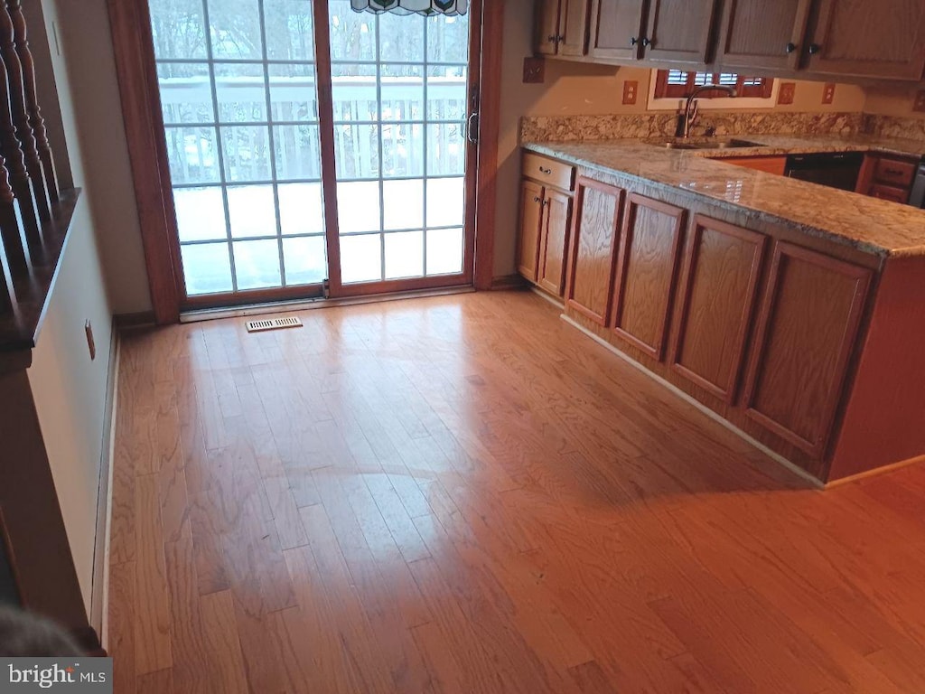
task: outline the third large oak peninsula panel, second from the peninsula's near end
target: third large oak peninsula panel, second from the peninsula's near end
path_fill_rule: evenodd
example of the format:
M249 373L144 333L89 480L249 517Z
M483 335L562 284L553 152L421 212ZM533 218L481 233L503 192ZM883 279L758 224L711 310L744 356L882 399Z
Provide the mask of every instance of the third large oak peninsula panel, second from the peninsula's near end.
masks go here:
M687 244L672 368L733 403L767 237L697 216Z

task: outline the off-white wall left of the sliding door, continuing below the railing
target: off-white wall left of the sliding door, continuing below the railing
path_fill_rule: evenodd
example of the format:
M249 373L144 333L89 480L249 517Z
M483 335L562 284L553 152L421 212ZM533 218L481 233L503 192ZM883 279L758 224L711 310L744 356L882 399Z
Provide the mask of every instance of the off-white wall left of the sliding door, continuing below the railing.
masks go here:
M30 20L45 117L57 121L60 113L60 123L49 123L62 151L58 163L67 166L69 158L70 174L83 193L28 375L89 614L99 472L108 445L103 437L113 308L142 311L150 301L140 239L132 238L138 237L138 223L105 0L42 0L30 7ZM81 30L87 35L78 35ZM51 76L56 92L45 88ZM95 360L85 338L87 320Z

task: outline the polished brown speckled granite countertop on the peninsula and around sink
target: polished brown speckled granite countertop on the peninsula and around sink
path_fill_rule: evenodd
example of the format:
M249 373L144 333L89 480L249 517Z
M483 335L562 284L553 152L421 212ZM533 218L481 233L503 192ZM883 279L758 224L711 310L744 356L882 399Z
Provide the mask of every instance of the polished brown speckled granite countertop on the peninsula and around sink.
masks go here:
M878 198L724 164L723 157L878 152L925 155L925 143L893 138L827 135L737 135L767 146L670 150L639 140L524 143L525 149L579 167L696 192L763 221L784 222L803 233L844 243L865 253L925 255L925 210ZM709 157L709 158L708 158Z

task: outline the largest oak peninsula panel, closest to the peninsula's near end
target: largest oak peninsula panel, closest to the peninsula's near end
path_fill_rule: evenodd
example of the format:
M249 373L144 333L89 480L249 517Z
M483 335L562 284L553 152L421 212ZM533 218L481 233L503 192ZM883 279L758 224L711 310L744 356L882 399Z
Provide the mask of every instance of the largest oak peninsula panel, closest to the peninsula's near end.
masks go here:
M745 406L810 455L825 451L869 285L864 267L775 244Z

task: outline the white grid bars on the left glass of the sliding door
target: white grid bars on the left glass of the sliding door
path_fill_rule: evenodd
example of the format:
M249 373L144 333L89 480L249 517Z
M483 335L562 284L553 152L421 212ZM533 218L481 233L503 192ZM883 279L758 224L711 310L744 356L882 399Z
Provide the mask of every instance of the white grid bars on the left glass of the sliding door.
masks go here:
M213 0L214 3L214 0ZM154 3L153 3L154 5ZM257 0L255 5L255 10L257 13L257 19L259 22L259 33L260 33L260 43L261 51L259 56L253 56L248 58L223 58L216 57L215 55L215 46L216 41L216 32L213 31L213 22L210 17L210 6L208 0L200 0L200 6L202 8L202 29L204 33L204 56L190 56L190 57L167 57L161 58L155 55L155 63L158 66L176 66L178 64L190 64L190 65L204 65L207 70L207 76L209 80L209 93L210 93L210 104L209 108L211 110L212 118L210 121L199 121L193 119L192 122L184 121L182 118L168 119L166 123L166 130L169 133L173 130L179 130L179 133L183 137L183 154L181 157L186 157L189 147L186 145L187 135L185 134L189 130L201 130L201 129L210 129L212 132L212 138L215 143L215 158L217 160L217 170L215 178L207 178L206 180L198 180L192 182L179 182L172 185L172 188L175 191L182 190L191 190L195 189L197 191L202 190L208 191L209 189L218 189L221 192L221 204L223 207L223 217L224 217L224 238L220 239L215 236L207 240L191 240L183 239L182 232L180 238L180 248L181 251L185 248L192 248L195 246L203 247L206 246L209 242L215 244L216 242L224 242L226 246L226 254L228 260L228 282L229 286L222 285L218 288L197 290L195 287L196 281L194 277L189 276L189 269L187 268L187 263L184 263L184 272L188 275L187 277L187 287L188 294L206 294L206 293L223 293L227 291L237 292L240 291L240 278L239 278L239 268L238 268L238 258L235 255L235 244L248 244L251 242L276 242L276 271L278 272L278 279L269 279L266 278L256 278L256 284L252 283L252 286L245 287L244 289L258 289L258 288L275 288L290 286L290 284L313 284L320 283L322 279L327 277L327 265L324 261L324 256L326 255L325 244L323 242L324 234L324 225L323 219L318 222L318 231L311 233L287 233L283 234L282 229L282 210L280 209L280 196L279 196L279 184L280 183L319 183L320 190L320 150L316 150L315 154L317 155L318 161L315 163L315 170L318 172L317 176L309 178L283 178L280 179L277 173L277 143L276 143L276 134L277 127L292 127L292 128L302 128L302 127L314 127L318 128L318 114L317 114L317 79L316 71L314 75L306 79L306 81L311 82L310 90L306 101L310 105L314 105L314 113L308 114L309 118L302 120L291 120L289 118L279 119L278 121L274 119L273 112L273 99L271 93L271 74L270 66L302 66L302 67L315 67L314 55L313 59L270 59L268 56L269 45L267 42L267 30L266 30L266 13L265 13L265 0ZM314 13L314 4L305 3L304 8L308 13ZM182 23L183 17L180 17L179 23ZM288 21L288 19L287 19ZM314 22L314 16L310 15L310 21ZM155 51L157 48L157 41L155 40ZM310 41L311 46L314 49L314 36L311 37ZM220 68L221 66L253 66L260 72L261 81L263 82L263 95L262 95L262 107L265 109L265 119L254 120L251 119L236 119L228 120L227 118L221 118L221 101L219 100L218 95L218 81L220 76L216 67ZM228 81L233 81L234 78L230 78ZM162 85L163 87L163 85ZM163 92L162 92L163 94ZM163 98L163 96L162 96ZM235 102L231 102L234 104ZM265 129L263 135L265 136L265 142L267 143L268 149L265 152L265 166L268 168L269 178L267 177L254 177L253 173L250 176L245 176L241 179L236 179L235 176L230 175L230 164L228 162L228 139L233 137L232 133L229 133L230 129L255 129L262 128ZM239 130L240 131L240 130ZM253 133L252 133L253 134ZM197 150L202 149L202 141L197 142L197 135L192 135L193 145ZM258 138L259 140L259 138ZM253 140L252 140L253 143ZM208 142L206 141L206 144ZM237 151L236 155L240 157L240 151ZM254 158L253 148L250 151L250 157ZM200 156L200 164L202 164L202 156ZM186 162L184 162L184 167ZM252 165L253 171L253 165ZM259 180L258 180L259 179ZM238 234L237 236L233 232L232 228L232 218L231 218L231 209L232 205L229 195L229 189L247 189L247 188L256 188L258 186L269 187L272 192L272 201L273 201L273 219L275 223L273 226L272 235L268 234L256 234L254 235L251 232ZM176 195L175 195L176 198ZM244 205L246 206L246 205ZM319 206L319 214L323 214L322 207ZM268 220L269 216L267 216ZM269 226L269 225L268 225ZM287 266L286 266L286 254L284 252L284 244L286 242L297 242L299 240L307 239L318 239L321 243L318 244L320 249L322 262L320 263L319 268L312 268L314 274L319 275L318 277L311 277L306 279L305 273L302 272L302 281L289 282L287 280ZM244 246L240 245L240 248L254 248L254 245ZM242 251L243 253L243 251ZM203 256L204 257L204 256ZM215 258L212 258L215 260ZM184 254L184 260L186 260L186 254ZM265 259L264 259L265 261ZM201 259L202 262L202 259ZM263 264L265 266L265 262ZM316 265L316 264L313 264ZM320 270L320 272L319 272ZM271 273L272 274L272 273ZM311 272L309 273L311 274ZM191 284L193 285L191 287Z

